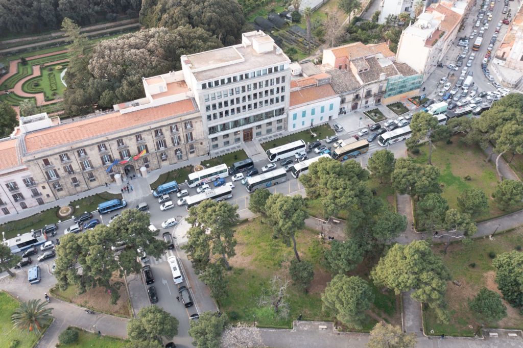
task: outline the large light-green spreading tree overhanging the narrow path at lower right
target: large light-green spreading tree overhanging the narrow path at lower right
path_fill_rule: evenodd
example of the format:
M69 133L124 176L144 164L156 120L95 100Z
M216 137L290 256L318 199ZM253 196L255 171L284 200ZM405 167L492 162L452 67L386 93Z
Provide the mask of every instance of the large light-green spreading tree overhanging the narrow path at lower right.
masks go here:
M436 309L440 321L448 320L443 309L450 272L428 242L394 245L371 271L371 278L374 284L386 286L396 295L414 290L412 298Z

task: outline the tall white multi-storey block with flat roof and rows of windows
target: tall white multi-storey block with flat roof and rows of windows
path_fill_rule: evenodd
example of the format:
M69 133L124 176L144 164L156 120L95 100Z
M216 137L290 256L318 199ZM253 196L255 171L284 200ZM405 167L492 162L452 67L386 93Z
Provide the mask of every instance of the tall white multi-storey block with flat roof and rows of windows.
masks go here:
M181 56L211 150L286 129L290 60L263 31L242 43Z

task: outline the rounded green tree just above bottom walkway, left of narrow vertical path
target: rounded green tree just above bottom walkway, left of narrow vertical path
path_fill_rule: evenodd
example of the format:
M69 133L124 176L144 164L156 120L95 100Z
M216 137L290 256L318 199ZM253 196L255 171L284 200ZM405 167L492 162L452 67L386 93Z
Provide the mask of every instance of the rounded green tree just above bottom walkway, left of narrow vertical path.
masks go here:
M361 329L365 311L370 309L374 294L369 284L358 276L336 275L322 294L323 309L344 324Z

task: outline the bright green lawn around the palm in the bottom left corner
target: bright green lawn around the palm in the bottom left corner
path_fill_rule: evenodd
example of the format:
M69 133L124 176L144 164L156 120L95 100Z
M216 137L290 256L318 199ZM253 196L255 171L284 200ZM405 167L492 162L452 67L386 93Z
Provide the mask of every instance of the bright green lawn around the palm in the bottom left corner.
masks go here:
M37 334L28 334L25 330L13 327L11 315L18 306L19 303L14 297L3 291L0 292L0 331L2 332L2 335L0 335L0 347L7 348L14 341L18 341L17 348L31 348L38 341L39 337Z

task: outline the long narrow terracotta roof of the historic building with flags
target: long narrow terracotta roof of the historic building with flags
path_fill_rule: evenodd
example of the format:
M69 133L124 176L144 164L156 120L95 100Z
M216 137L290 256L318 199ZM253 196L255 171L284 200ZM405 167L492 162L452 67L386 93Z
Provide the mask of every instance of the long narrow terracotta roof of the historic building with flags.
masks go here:
M184 99L154 108L124 114L113 112L92 119L65 123L26 134L24 138L26 151L31 153L61 144L99 137L111 132L121 131L133 126L195 110L196 108L192 100Z

